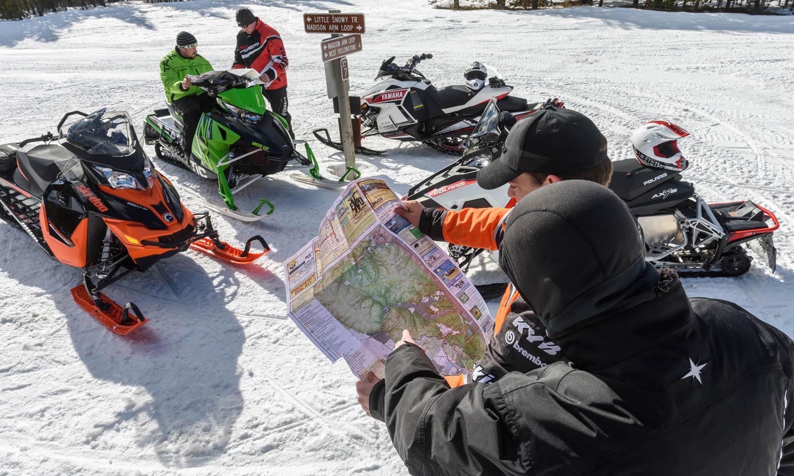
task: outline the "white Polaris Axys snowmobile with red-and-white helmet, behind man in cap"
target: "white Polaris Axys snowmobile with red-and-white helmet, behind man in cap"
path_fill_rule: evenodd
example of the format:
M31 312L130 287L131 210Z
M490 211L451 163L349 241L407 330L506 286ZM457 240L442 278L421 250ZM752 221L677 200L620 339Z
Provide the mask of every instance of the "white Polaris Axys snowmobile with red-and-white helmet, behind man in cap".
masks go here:
M499 113L497 103L491 101L469 136L463 157L419 182L403 200L445 209L515 205L507 197L507 185L484 190L476 181L477 171L501 155L515 124L510 116ZM677 140L688 135L668 122L649 122L634 131L636 159L614 162L610 188L638 217L646 259L657 269L672 268L684 276L738 276L750 270L752 258L742 246L747 244L775 271L777 217L749 201L707 204L680 176L688 162ZM449 255L464 270L482 251L449 245ZM491 257L498 263L496 253Z

